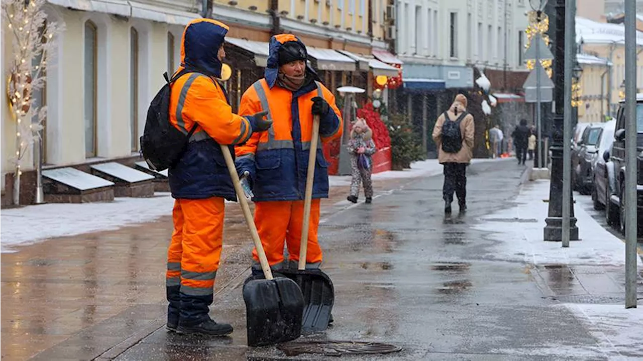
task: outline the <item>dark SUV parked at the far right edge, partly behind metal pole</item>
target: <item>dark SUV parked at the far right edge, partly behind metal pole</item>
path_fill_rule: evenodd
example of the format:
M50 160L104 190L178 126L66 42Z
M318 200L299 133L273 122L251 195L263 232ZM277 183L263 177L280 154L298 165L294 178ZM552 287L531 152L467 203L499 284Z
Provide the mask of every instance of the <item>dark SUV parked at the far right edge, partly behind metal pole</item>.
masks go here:
M603 154L608 175L607 194L610 199L606 202L605 216L609 224L617 225L625 233L625 103L620 101L616 115L614 143L611 152ZM643 163L643 94L637 94L637 214L643 210L643 179L640 168Z

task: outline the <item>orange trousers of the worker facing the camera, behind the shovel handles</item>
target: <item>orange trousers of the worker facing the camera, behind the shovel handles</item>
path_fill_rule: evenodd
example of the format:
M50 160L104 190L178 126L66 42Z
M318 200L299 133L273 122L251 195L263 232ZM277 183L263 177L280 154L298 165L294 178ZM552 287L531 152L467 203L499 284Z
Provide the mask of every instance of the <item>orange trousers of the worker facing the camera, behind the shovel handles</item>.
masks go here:
M308 227L307 268L317 268L321 263L321 248L317 242L319 224L320 200L313 199ZM293 263L299 261L303 200L255 202L255 225L272 269L278 270L284 267L284 241L288 248L288 260ZM252 255L255 258L255 267L260 267L257 249L253 250Z

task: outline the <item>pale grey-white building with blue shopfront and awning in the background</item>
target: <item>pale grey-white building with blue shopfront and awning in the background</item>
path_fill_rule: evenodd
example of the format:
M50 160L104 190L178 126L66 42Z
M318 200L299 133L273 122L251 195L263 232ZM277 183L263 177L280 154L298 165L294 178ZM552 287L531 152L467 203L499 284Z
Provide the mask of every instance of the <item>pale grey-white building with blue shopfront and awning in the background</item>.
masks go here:
M521 54L528 4L523 0L401 0L396 6L397 19L403 21L396 22L395 51L404 62L398 108L422 132L431 155L435 145L428 134L455 94L469 94L469 101L480 108L482 98L473 94L474 89L480 90L476 78L484 74L492 91L505 91L515 83L514 73L525 73ZM479 120L484 124L484 119Z

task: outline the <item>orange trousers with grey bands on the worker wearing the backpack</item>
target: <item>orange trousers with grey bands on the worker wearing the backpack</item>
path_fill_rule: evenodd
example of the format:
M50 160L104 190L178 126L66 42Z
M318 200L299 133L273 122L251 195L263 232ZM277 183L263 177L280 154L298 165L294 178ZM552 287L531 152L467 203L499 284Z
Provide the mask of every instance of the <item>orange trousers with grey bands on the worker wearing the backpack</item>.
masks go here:
M224 199L177 199L172 218L166 285L180 284L181 294L211 300L223 243Z

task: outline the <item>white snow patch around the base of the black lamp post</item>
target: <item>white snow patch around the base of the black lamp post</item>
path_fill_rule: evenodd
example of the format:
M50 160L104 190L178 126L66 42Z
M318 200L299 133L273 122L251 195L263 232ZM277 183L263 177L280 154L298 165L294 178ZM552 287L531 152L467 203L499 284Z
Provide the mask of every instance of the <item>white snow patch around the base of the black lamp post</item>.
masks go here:
M584 211L574 207L581 241L543 241L547 217L549 180L536 180L522 186L514 206L480 218L475 229L491 233L498 243L489 256L494 260L524 261L534 265L624 265L625 244ZM509 222L515 220L515 222Z

